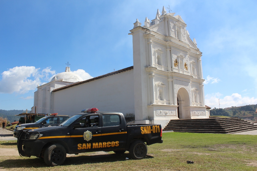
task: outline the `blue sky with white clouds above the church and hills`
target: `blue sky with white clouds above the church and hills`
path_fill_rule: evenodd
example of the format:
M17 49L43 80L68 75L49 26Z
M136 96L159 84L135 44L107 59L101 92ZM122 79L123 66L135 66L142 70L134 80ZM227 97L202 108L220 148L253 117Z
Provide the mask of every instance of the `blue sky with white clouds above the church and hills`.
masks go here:
M2 0L0 109L30 109L67 62L84 79L132 66L133 23L168 5L203 52L206 105L257 104L257 1Z

